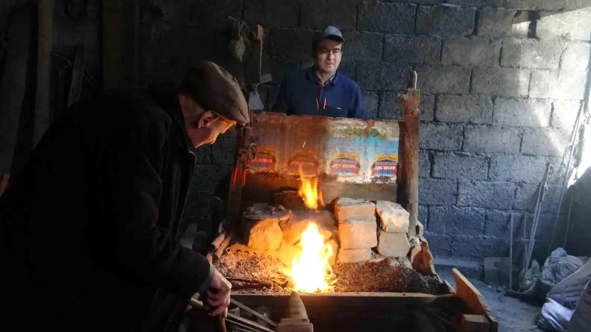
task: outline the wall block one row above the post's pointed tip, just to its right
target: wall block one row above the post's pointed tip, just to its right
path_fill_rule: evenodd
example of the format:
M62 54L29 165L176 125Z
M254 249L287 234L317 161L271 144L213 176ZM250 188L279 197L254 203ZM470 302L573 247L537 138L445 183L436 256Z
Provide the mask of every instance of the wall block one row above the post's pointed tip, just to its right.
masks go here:
M501 42L462 38L444 41L441 62L459 66L492 67L499 65Z

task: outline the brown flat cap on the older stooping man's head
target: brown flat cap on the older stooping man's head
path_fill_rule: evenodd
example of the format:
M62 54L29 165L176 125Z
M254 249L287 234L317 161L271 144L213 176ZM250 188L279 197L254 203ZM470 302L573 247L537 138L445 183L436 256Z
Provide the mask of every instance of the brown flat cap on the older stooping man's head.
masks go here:
M203 61L187 71L181 89L200 106L238 123L248 123L248 103L238 81L225 69Z

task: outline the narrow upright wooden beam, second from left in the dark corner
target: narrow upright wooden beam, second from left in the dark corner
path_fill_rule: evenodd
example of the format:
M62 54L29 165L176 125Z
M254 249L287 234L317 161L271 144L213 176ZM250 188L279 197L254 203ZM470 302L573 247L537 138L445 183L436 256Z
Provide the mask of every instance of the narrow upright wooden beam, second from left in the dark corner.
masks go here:
M50 73L51 47L53 45L54 0L39 1L39 25L37 42L37 87L35 88L35 118L33 148L45 134L51 122Z

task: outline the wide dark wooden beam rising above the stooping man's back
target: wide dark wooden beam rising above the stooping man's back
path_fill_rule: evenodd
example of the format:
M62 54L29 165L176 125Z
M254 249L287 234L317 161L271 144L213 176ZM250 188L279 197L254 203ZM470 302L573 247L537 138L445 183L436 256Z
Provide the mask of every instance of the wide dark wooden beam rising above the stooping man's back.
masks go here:
M138 84L138 0L102 0L103 88Z

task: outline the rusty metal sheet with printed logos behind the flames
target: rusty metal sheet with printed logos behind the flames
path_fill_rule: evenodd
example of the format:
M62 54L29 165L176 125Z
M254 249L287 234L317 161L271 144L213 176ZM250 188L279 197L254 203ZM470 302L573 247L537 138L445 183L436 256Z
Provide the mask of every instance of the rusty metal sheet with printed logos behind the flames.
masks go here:
M258 157L251 174L306 175L324 181L395 184L400 123L261 113L254 125Z

